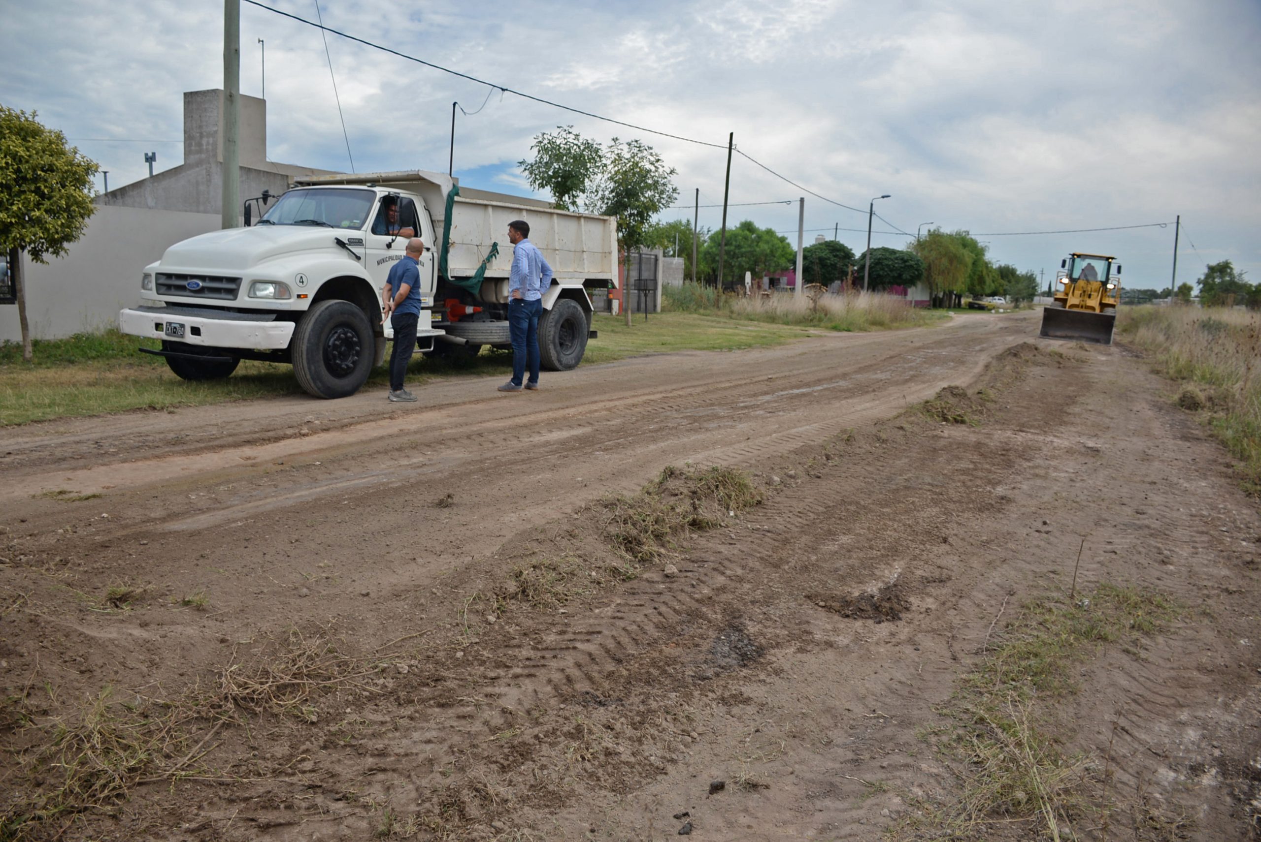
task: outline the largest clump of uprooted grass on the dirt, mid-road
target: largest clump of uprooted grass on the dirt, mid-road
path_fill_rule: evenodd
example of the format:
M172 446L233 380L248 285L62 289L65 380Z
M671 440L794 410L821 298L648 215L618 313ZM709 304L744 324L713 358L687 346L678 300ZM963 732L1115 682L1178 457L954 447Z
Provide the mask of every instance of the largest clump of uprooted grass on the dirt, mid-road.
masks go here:
M676 538L710 529L762 502L752 478L736 468L667 466L633 497L609 497L605 532L636 563L657 561Z

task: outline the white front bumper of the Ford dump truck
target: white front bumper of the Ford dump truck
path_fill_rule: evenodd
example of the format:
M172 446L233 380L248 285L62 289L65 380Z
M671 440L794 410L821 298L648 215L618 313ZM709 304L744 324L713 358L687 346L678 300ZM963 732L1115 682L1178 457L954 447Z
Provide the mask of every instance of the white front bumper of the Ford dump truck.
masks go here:
M119 311L119 330L132 337L169 339L206 348L277 350L289 347L293 321L270 313L208 314L182 308L127 308Z

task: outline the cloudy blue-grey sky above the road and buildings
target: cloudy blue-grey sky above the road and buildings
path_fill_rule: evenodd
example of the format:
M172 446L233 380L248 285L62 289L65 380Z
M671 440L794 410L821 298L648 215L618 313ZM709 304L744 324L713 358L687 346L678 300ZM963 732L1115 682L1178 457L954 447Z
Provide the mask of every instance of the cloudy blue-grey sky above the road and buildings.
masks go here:
M259 96L266 44L269 156L347 170L315 0L242 3L241 88ZM182 160L182 93L222 87L219 0L0 0L0 103L38 111L119 187ZM1117 255L1132 287L1229 258L1261 281L1258 0L328 0L324 24L492 84L638 126L736 146L731 224L864 247L929 222L986 241L996 262L1052 276L1069 251ZM561 111L328 35L358 171L446 166L528 194L516 165L557 125L639 137L678 173L678 204L723 200L725 149ZM488 96L489 95L489 96ZM139 142L135 142L139 141ZM702 208L716 228L720 208ZM670 212L666 218L690 217ZM890 227L892 226L892 227ZM927 226L926 226L927 227ZM857 231L846 231L857 229ZM874 245L907 237L876 233Z

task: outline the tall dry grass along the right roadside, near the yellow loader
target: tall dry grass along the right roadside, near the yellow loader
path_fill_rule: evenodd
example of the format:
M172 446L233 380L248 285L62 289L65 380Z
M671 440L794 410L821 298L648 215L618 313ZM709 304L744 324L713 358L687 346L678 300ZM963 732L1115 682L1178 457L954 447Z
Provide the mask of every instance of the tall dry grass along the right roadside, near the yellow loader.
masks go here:
M1124 308L1117 330L1160 371L1203 392L1209 426L1261 494L1261 315L1192 306Z

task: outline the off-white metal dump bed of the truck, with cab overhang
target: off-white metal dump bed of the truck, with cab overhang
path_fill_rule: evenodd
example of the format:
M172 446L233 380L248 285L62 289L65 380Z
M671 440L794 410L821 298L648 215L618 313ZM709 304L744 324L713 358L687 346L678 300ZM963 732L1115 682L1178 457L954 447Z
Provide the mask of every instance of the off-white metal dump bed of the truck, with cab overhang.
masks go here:
M364 184L419 194L441 232L448 198L455 180L443 173L409 170L401 173L362 173L319 175L298 180L301 187ZM605 280L617 282L617 217L556 211L543 202L522 197L470 190L477 198L456 194L451 207L451 234L448 265L451 277L470 277L482 265L492 243L498 256L487 267L485 277L507 277L512 266L508 223L530 223L530 241L538 246L559 280Z

